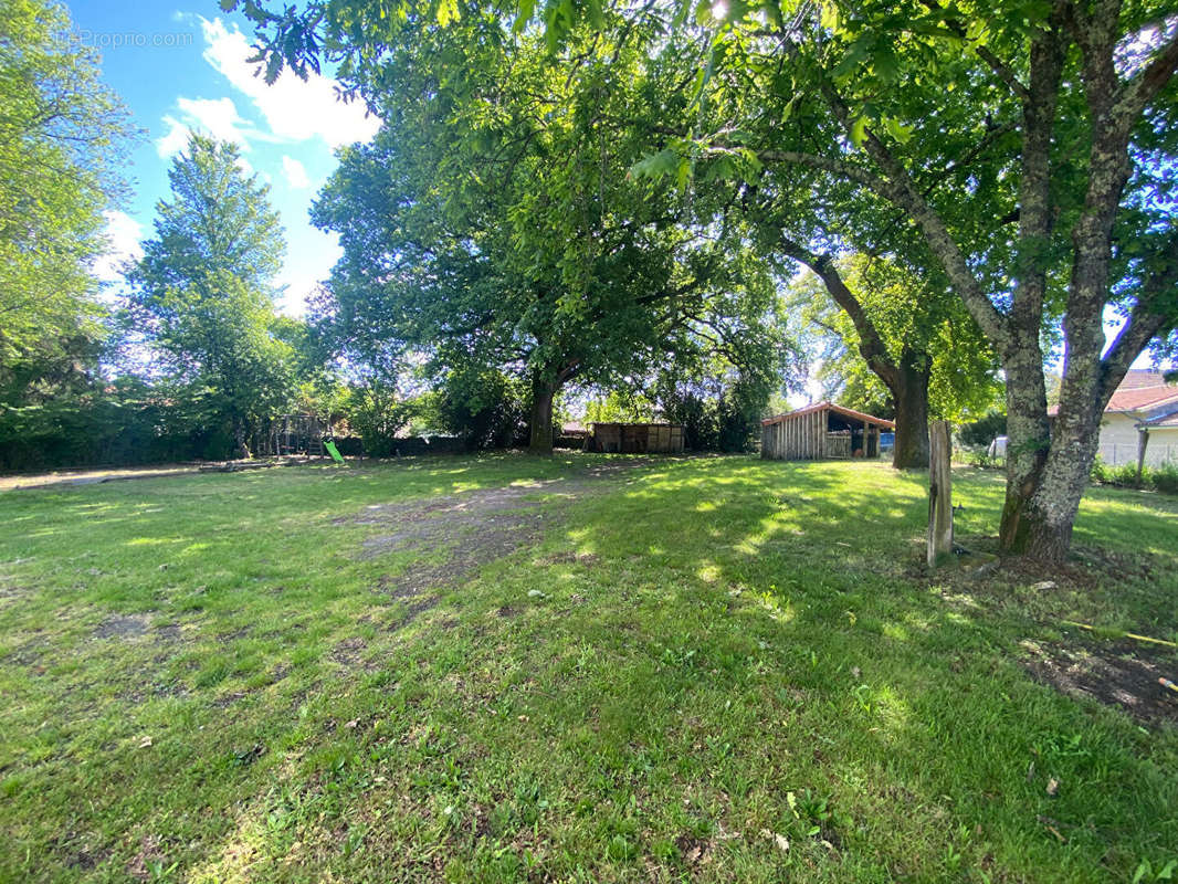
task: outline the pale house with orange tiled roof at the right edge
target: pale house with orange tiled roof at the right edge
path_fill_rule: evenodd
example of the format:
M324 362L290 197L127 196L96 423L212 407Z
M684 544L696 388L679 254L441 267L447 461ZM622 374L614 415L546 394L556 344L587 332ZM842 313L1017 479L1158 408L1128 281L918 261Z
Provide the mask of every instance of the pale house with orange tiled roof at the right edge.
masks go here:
M1131 369L1105 407L1098 454L1105 463L1137 463L1145 444L1145 464L1178 463L1178 385L1160 371Z

